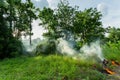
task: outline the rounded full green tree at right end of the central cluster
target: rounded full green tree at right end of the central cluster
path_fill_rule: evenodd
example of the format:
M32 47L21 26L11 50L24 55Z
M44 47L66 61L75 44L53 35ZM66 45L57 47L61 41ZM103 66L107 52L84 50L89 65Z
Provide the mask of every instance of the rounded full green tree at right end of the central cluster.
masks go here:
M104 37L105 29L100 21L101 16L96 8L76 13L73 31L79 41L84 44Z

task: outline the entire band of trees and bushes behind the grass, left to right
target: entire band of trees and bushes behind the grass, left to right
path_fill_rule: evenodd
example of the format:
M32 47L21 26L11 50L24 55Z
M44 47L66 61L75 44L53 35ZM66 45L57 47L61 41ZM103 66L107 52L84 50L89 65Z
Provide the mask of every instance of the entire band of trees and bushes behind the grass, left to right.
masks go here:
M79 10L72 7L68 1L61 1L57 9L36 8L31 0L1 0L0 1L0 58L14 57L22 53L21 36L32 36L32 21L40 19L40 25L47 30L43 36L46 39L40 44L40 49L46 45L46 52L55 53L57 39L76 42L76 49L97 39L102 43L118 43L120 40L119 28L104 28L102 15L96 8ZM108 37L105 34L109 33ZM51 50L51 51L50 51ZM40 51L40 50L39 50ZM42 52L42 51L40 51Z

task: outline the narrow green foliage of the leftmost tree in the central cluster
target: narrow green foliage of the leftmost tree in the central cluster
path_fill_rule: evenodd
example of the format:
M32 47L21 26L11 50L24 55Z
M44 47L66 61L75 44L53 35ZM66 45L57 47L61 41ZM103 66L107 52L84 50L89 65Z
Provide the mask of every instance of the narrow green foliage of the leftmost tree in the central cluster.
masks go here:
M56 15L52 9L44 8L42 11L40 11L39 18L42 20L41 25L47 30L47 32L43 34L44 37L56 40L61 36L57 27L58 22Z

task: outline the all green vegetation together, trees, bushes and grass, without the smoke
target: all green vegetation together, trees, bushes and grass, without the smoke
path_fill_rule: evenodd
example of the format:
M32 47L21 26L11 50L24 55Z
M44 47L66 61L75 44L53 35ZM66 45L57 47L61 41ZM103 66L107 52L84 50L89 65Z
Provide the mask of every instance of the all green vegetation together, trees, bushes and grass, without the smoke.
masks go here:
M57 54L60 38L74 42L75 50L100 40L105 58L120 61L120 28L104 28L101 18L96 8L81 11L67 0L61 0L55 10L36 8L31 0L0 0L0 80L110 80L112 76L101 73L96 60ZM21 36L29 36L31 44L31 24L36 19L46 29L44 40L34 51L37 57L23 57Z

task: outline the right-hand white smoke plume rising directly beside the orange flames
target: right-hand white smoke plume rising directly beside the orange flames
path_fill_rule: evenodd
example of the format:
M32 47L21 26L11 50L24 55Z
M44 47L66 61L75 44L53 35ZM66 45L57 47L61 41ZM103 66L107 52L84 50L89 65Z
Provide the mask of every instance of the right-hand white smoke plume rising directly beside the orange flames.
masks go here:
M82 57L84 58L99 58L101 61L104 60L102 49L100 47L100 42L96 41L91 43L90 45L84 45L80 52L83 53Z

